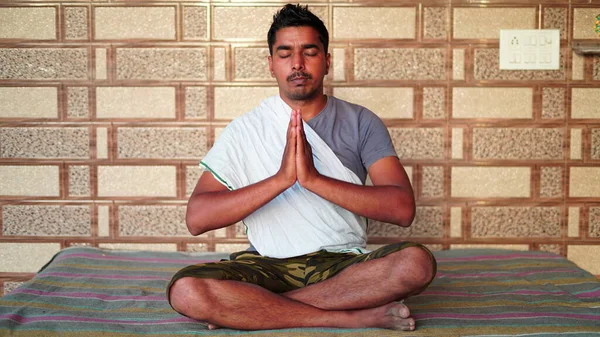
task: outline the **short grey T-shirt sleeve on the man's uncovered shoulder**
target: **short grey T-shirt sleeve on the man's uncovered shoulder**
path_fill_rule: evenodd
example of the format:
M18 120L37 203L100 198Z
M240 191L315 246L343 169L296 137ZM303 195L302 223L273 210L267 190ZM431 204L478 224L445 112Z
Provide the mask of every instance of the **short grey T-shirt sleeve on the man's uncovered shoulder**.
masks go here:
M368 109L359 116L360 157L363 165L369 167L384 157L397 157L390 133L383 121Z

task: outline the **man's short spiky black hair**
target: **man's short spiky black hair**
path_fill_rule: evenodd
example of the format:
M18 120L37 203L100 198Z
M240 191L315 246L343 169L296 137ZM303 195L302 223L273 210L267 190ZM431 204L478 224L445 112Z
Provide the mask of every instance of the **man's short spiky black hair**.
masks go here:
M308 10L308 6L300 4L287 4L273 15L273 23L267 33L267 42L269 43L269 54L273 55L273 45L275 44L275 35L277 31L287 27L312 27L319 33L319 41L325 48L329 47L329 32L321 19Z

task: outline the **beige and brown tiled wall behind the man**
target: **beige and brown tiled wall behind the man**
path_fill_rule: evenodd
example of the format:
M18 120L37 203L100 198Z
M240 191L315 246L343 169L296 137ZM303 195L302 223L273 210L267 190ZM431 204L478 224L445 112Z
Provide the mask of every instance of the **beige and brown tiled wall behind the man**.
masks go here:
M198 161L277 92L278 1L0 2L0 284L73 245L244 249L190 236ZM370 244L560 253L600 274L600 1L314 1L332 37L326 92L389 127L418 200ZM501 71L499 29L555 28L559 70ZM1 289L0 289L1 290Z

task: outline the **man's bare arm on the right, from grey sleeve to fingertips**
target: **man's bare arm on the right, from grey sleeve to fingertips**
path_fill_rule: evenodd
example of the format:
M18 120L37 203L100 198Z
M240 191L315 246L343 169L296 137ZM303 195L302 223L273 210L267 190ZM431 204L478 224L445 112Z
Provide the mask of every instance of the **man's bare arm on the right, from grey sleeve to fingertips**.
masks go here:
M314 168L312 150L302 123L298 124L296 169L298 181L309 191L370 219L410 226L415 199L408 176L396 157L381 158L369 167L374 186L363 186L323 176Z

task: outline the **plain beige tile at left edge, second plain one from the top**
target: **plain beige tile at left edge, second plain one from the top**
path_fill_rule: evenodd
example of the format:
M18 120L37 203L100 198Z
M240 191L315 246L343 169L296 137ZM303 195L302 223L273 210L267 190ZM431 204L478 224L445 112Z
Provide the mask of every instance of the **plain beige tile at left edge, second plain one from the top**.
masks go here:
M56 87L0 87L0 118L57 118Z

